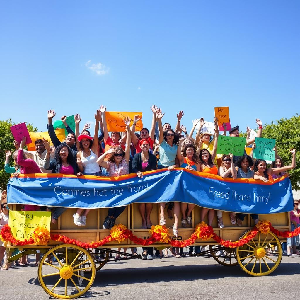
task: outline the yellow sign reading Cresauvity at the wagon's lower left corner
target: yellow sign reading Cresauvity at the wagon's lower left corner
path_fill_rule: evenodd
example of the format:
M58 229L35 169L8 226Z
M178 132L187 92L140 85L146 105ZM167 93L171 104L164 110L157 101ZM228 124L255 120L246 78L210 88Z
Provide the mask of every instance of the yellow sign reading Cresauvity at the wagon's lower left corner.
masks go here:
M14 238L24 241L32 238L37 227L50 231L51 211L10 210L8 226Z

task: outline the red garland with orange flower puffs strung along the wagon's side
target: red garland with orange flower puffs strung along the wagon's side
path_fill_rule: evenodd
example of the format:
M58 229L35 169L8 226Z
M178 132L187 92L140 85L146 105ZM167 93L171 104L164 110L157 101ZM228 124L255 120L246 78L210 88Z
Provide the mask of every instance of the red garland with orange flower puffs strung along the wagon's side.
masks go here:
M149 246L157 242L162 242L164 244L170 244L173 247L187 247L194 244L196 239L198 238L204 241L212 238L217 243L219 243L224 247L235 248L235 247L241 247L244 244L248 243L251 239L253 239L257 235L258 231L261 232L262 234L267 234L268 232L271 231L277 236L287 238L287 237L292 237L300 234L300 227L296 228L292 232L290 231L281 232L275 229L271 225L271 223L269 223L269 221L259 221L248 235L244 236L238 241L229 241L220 238L220 236L214 233L214 230L211 226L208 226L204 222L201 222L196 225L194 233L189 238L183 241L179 241L170 238L169 229L166 228L166 226L161 226L161 225L152 226L151 229L149 230L149 233L152 234L151 237L147 239L143 239L135 236L131 232L131 230L126 228L126 226L122 224L118 224L113 226L113 228L110 231L110 235L107 235L101 241L98 242L92 241L91 243L85 243L85 242L77 241L76 239L73 238L68 238L65 235L60 235L60 234L50 235L47 229L41 229L41 228L35 229L32 238L29 238L28 240L20 241L13 237L13 235L10 233L10 228L7 224L4 225L1 229L0 238L4 242L4 244L10 242L11 244L16 246L24 246L24 245L30 245L35 243L39 245L45 245L51 238L54 241L59 241L65 244L74 244L83 248L97 248L109 243L110 241L118 241L120 243L127 238L133 241L134 244L138 244L142 246Z

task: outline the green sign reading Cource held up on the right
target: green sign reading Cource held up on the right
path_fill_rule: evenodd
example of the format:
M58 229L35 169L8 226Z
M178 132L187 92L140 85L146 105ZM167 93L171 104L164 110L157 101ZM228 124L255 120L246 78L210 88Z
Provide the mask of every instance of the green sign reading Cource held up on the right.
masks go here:
M244 155L246 139L244 137L227 137L219 135L217 154L232 153L236 156Z

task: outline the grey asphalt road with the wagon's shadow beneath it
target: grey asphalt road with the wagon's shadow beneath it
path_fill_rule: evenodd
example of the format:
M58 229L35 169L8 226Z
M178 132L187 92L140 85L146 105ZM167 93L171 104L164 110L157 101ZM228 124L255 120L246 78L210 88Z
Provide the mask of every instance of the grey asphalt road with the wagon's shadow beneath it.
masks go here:
M34 256L29 266L0 271L0 299L51 299L39 285ZM81 298L105 300L298 299L300 255L283 256L268 276L253 277L239 266L208 257L167 257L108 262Z

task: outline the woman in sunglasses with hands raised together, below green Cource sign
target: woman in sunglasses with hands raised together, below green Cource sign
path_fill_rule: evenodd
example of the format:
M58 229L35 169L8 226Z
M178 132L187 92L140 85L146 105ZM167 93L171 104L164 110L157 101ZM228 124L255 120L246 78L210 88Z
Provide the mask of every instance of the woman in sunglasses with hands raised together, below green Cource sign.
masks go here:
M226 177L233 178L233 179L237 178L237 172L234 167L232 153L229 153L229 155L227 155L227 154L223 155L222 164L218 170L218 175L220 175L223 178L226 178ZM229 212L229 217L230 217L230 221L231 221L232 225L234 225L236 223L235 215L236 215L236 213ZM224 228L223 211L217 210L217 217L218 217L219 228Z

